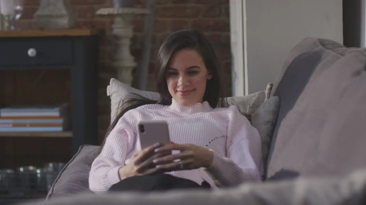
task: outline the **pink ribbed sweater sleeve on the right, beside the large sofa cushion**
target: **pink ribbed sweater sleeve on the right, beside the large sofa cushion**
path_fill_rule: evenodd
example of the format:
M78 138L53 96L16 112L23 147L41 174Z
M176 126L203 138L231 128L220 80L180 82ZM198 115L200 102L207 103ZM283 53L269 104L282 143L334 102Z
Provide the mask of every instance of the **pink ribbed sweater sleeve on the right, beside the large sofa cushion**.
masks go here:
M227 156L223 158L214 154L212 165L206 171L219 182L218 186L230 187L243 182L259 182L261 137L238 109L230 109L230 112Z

